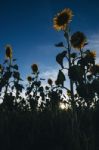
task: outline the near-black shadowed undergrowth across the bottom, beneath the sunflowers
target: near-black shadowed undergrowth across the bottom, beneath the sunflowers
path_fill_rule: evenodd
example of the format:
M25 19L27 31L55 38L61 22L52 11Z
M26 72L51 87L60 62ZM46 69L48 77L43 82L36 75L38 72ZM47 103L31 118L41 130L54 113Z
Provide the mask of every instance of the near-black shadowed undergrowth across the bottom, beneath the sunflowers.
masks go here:
M70 110L0 112L0 149L98 150L99 108L77 113L79 130Z

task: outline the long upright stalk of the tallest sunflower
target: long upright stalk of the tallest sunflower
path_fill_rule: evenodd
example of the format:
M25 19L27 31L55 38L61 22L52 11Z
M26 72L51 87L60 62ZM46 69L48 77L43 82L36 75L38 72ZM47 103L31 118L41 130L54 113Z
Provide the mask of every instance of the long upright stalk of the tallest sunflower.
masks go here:
M65 31L64 34L66 41L67 41L67 51L68 51L68 65L69 69L72 67L71 62L71 44L70 44L70 33L69 31ZM75 108L75 99L74 99L74 86L72 79L70 80L70 90L71 90L71 107L72 107L72 142L77 150L80 149L80 141L79 141L79 125L77 119L77 112Z

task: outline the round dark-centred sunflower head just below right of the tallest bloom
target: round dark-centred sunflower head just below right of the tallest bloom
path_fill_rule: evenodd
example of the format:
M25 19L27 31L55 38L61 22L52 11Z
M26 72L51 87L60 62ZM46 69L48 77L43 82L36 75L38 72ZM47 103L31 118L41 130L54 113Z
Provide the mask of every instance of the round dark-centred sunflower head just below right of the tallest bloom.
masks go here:
M86 44L86 41L87 41L86 36L80 31L75 32L71 36L71 45L76 49L83 48Z

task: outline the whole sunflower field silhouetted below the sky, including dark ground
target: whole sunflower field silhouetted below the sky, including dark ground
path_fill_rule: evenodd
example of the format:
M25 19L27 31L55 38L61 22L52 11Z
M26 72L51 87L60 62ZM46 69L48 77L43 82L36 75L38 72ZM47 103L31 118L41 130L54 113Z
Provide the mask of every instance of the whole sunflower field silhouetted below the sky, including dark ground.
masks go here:
M99 65L96 52L86 48L86 36L70 32L72 17L64 9L54 18L66 43L55 44L62 49L56 56L60 69L56 81L49 78L46 86L37 64L31 65L25 86L12 47L6 46L0 65L1 149L99 150Z

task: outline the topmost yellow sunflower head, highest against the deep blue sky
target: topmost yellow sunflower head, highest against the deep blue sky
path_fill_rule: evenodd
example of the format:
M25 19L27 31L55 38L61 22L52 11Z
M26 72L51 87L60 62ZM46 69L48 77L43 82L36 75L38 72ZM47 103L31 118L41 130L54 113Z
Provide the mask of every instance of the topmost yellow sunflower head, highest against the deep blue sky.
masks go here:
M55 30L65 30L68 23L71 21L73 16L72 11L69 8L65 8L63 11L58 13L54 19L54 29Z

